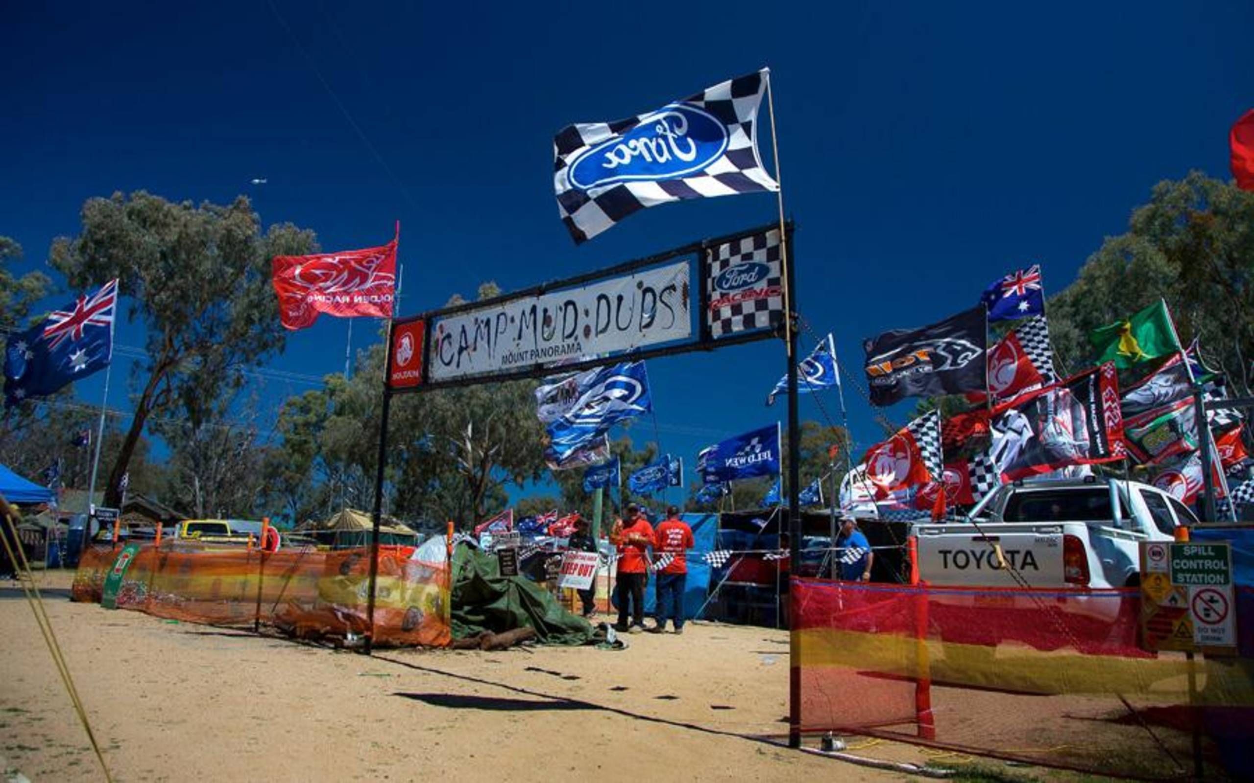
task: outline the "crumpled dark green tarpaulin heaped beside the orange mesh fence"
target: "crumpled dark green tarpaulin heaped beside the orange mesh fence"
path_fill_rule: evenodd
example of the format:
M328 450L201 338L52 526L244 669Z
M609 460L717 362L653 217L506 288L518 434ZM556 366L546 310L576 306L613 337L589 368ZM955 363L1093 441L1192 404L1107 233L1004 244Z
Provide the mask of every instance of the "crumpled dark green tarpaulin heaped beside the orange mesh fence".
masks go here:
M525 576L500 576L497 557L466 545L453 552L453 638L530 626L543 644L601 641L592 625Z

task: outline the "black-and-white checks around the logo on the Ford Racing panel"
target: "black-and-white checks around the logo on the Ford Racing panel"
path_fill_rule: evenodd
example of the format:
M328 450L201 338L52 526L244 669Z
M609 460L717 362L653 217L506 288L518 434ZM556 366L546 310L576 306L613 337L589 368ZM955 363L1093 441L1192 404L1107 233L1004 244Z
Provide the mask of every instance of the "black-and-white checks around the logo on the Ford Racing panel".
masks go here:
M711 337L724 337L736 332L760 329L780 323L784 319L784 274L780 267L780 232L772 229L734 239L726 244L707 251L706 296L710 311L706 319L710 323ZM756 281L751 288L752 297L722 297L719 291L719 276L729 268L747 262L764 263L767 267L766 278ZM737 292L742 294L744 291ZM735 302L724 299L735 298Z

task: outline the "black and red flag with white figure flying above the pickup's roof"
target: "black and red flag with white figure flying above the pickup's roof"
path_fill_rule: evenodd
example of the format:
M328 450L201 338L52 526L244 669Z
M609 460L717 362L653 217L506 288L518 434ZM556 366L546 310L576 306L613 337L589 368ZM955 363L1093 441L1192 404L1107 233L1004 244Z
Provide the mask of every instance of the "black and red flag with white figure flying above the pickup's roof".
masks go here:
M1003 481L1122 460L1124 417L1112 362L993 410L989 456Z

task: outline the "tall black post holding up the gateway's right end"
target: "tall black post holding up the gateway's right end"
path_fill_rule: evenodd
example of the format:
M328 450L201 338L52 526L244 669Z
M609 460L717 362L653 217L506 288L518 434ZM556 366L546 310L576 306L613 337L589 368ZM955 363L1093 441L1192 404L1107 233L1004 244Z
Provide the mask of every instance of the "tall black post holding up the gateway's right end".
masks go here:
M794 268L795 253L793 248L793 231L789 227L786 236L788 267L784 271L784 284L789 289L789 308L791 312L784 313L791 319L788 345L788 550L789 550L789 591L788 591L788 626L789 626L789 729L788 744L790 748L801 747L801 666L799 665L801 653L801 636L798 634L796 621L796 591L793 590L793 579L796 575L798 564L801 561L801 426L798 415L796 398L796 327L798 306Z

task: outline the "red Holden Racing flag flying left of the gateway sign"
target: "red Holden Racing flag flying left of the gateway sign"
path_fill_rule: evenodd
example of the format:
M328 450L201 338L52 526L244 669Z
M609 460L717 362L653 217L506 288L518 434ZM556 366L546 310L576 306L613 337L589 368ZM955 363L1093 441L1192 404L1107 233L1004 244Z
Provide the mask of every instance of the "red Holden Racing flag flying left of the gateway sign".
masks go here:
M319 313L391 318L396 293L396 238L382 247L317 256L276 256L278 317L288 329L314 326Z

